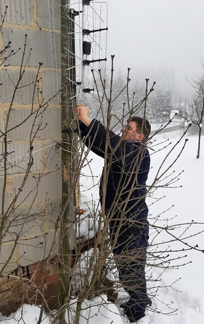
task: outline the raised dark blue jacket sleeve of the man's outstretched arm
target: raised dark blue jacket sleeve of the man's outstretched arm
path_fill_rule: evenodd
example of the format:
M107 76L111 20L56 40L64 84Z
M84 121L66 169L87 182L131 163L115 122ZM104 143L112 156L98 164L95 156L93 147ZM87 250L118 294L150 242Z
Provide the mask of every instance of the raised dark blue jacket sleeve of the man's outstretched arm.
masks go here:
M89 126L85 126L83 123L80 124L81 138L87 136L89 133L89 138L86 139L86 146L91 145L91 151L97 155L104 158L105 145L106 145L106 129L96 119L93 119ZM118 145L121 141L120 136L116 135L114 132L109 132L109 146L108 146L108 155L112 150ZM125 164L132 162L133 157L135 157L135 148L133 151L132 143L127 141L121 141L117 149L114 150L113 161L117 160L117 163L122 164L123 161Z

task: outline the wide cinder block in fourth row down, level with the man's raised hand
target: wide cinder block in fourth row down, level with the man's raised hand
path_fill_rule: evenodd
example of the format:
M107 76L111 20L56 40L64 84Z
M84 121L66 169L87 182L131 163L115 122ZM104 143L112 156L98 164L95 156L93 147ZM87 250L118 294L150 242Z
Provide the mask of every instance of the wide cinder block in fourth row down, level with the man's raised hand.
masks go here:
M30 109L14 109L11 111L8 127L12 128L25 120L31 113ZM9 137L12 141L24 141L30 137L31 127L34 121L33 114L26 122L21 126L15 128L9 132ZM40 115L33 128L33 132L36 132L39 122L42 121L40 127L41 130L37 133L37 138L58 138L61 136L61 109L60 108L47 108L43 115ZM46 125L47 124L47 125Z

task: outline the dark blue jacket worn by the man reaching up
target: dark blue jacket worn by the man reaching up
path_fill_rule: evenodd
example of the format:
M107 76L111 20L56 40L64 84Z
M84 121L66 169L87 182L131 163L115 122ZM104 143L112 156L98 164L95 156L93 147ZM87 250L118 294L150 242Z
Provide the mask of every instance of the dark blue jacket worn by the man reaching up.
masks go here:
M91 151L96 153L98 156L104 158L105 151L105 142L106 142L106 129L96 119L93 119L90 125L87 127L82 122L80 122L80 130L81 130L81 138L86 136L89 133L88 138L86 139L86 146L91 147ZM115 148L120 141L120 136L116 135L112 131L109 132L109 143L111 148ZM111 148L108 147L108 156L111 154ZM148 238L148 208L145 203L145 192L146 192L146 180L150 168L150 156L149 152L146 149L143 150L143 154L141 152L141 144L138 141L135 142L127 142L122 141L119 147L115 150L114 155L111 160L110 172L108 175L108 182L106 188L106 198L105 198L105 211L106 214L110 211L111 205L113 201L117 200L117 187L119 185L119 201L117 207L114 212L112 212L111 222L110 222L110 232L115 232L117 230L118 218L121 215L121 209L124 206L124 201L128 197L130 192L130 188L135 179L135 170L137 169L137 165L135 165L135 161L138 163L140 159L142 159L140 164L140 169L137 175L137 181L134 182L134 190L130 195L130 199L125 208L125 219L129 220L124 222L124 226L128 228L128 233L131 234L139 234L142 232L146 238ZM139 154L139 156L138 156ZM142 155L142 157L141 157ZM108 162L107 162L108 165ZM133 173L131 174L131 172ZM122 177L121 177L122 174ZM127 182L129 183L127 184ZM126 188L124 187L124 184ZM103 174L101 176L100 181L100 202L102 204L102 185L103 185ZM142 199L140 198L141 196ZM133 220L134 222L132 222ZM135 221L139 221L135 223ZM123 232L125 232L123 226Z

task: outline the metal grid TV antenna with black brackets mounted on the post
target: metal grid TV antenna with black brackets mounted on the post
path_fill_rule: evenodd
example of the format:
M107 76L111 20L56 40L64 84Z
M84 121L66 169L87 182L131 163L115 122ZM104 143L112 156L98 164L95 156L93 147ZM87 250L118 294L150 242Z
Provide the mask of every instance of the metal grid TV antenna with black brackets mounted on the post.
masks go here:
M59 16L61 15L61 5L56 0L48 0L50 34L51 41L51 59L52 59L52 77L53 92L57 92L60 87L60 62L57 62L59 53L56 53L56 33L61 30ZM75 75L70 73L67 77L69 83L76 86L76 103L85 102L94 103L97 99L96 85L91 70L93 69L97 88L100 88L100 69L102 77L105 78L107 61L107 34L108 34L108 4L103 1L93 0L70 0L67 19L74 24L74 29L67 35L68 38L75 40L75 51L71 52L69 48L65 50L75 57ZM73 67L67 68L69 72ZM68 73L69 75L69 73ZM72 79L72 76L74 79ZM70 93L70 99L73 94ZM57 98L59 100L59 98ZM98 103L98 100L97 100Z

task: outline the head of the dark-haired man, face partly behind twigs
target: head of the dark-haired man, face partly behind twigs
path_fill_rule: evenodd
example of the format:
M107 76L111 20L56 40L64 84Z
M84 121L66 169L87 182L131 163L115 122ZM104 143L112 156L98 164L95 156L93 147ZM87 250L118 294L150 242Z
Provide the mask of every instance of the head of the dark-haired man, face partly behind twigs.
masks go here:
M149 121L145 120L145 124L142 127L143 118L141 117L131 117L128 120L128 124L125 128L123 128L123 136L124 139L128 142L133 141L141 141L147 140L150 132L151 132L151 125ZM145 127L146 126L146 127Z

